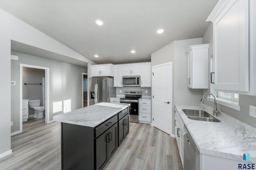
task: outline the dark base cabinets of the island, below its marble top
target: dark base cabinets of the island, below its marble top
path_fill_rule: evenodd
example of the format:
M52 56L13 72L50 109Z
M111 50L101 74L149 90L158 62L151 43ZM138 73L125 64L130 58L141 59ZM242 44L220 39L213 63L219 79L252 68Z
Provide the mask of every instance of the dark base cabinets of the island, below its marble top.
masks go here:
M96 127L62 122L62 170L102 170L129 133L128 111L121 111Z

